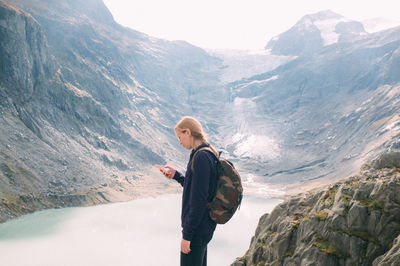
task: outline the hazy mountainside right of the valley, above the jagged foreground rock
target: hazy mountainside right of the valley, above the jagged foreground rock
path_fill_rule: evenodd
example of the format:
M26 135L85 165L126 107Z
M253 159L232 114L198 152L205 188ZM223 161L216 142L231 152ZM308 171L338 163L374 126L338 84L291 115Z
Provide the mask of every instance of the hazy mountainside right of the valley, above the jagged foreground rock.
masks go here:
M229 131L227 121L236 128L219 145L253 173L249 180L293 188L348 176L399 149L399 47L393 28L229 84L218 132Z

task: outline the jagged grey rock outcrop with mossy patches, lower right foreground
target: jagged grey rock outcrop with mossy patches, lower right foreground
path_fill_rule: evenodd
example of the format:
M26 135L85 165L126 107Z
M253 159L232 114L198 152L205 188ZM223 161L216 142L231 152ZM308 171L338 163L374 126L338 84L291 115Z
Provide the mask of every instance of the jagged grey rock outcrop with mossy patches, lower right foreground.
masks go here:
M232 265L400 264L399 156L384 154L355 176L279 204Z

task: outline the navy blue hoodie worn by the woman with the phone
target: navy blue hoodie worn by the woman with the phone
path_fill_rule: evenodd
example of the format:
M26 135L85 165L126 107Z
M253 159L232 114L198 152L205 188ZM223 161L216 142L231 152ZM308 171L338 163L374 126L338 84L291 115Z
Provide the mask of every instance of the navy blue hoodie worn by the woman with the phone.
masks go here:
M216 227L207 209L207 202L211 201L215 193L216 159L208 151L199 151L194 158L194 172L191 170L194 153L208 146L202 143L192 150L185 176L178 171L174 175L174 179L183 186L182 235L183 239L188 241L191 241L194 235L209 235Z

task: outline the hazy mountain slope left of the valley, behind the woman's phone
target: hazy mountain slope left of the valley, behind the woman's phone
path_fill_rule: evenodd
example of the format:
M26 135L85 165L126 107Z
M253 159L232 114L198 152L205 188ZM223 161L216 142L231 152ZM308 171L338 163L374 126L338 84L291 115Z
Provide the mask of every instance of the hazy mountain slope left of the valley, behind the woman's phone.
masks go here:
M182 164L172 128L219 59L124 28L100 0L0 14L0 221L176 189L151 169Z

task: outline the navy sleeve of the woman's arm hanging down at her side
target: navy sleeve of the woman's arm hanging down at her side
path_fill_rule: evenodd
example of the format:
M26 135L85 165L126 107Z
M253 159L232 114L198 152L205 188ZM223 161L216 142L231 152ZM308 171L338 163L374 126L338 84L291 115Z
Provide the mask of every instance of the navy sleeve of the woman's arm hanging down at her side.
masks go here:
M189 213L182 230L183 239L185 240L192 240L204 213L207 211L211 167L212 164L206 151L200 151L194 158L194 171L190 185Z

